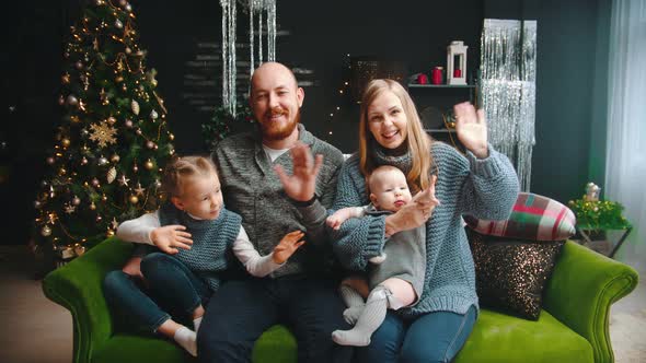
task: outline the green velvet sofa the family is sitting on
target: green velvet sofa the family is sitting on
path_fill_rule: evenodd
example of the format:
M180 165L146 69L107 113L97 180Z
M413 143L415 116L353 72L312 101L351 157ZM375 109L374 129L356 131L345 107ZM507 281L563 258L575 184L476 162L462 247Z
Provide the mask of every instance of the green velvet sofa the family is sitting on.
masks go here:
M45 295L71 312L73 361L193 361L170 341L117 331L101 285L131 249L131 244L108 238L44 279ZM628 266L567 242L546 286L539 320L483 308L455 362L613 362L610 305L636 284L637 273ZM285 327L270 328L256 342L253 362L296 362L296 340Z

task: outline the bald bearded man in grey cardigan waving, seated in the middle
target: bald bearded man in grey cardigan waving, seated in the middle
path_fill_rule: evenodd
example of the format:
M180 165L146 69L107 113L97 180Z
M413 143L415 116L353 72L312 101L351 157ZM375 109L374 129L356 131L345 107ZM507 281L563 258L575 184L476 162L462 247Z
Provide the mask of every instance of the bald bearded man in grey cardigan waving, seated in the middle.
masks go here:
M270 277L231 280L214 294L197 338L200 362L249 362L254 342L276 324L296 336L299 362L349 361L349 348L331 339L348 325L324 229L343 154L302 126L303 99L287 67L263 63L250 93L258 131L232 136L212 154L224 203L242 215L261 254L296 230L307 243Z

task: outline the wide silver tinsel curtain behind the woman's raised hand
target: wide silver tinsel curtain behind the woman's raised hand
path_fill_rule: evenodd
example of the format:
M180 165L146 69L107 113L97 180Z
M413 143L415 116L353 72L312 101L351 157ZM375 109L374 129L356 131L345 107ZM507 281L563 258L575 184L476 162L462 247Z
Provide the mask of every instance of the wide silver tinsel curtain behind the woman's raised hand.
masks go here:
M481 43L489 141L511 160L521 189L529 191L535 144L537 22L486 19Z

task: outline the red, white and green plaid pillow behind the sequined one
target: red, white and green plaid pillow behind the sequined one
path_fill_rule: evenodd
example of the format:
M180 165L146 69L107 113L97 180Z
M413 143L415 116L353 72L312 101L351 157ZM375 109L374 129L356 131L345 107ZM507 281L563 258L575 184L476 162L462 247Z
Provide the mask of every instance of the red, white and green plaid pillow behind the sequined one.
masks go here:
M500 237L530 241L563 241L575 234L573 211L547 197L520 192L508 220L487 221L464 215L474 231Z

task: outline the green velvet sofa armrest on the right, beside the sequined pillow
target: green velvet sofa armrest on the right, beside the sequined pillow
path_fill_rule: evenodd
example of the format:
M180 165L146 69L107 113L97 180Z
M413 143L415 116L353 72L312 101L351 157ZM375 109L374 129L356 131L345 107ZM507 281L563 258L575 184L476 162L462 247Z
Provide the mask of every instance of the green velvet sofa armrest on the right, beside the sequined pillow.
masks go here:
M610 305L633 291L637 280L630 266L568 241L545 289L543 308L590 342L595 362L613 362Z

